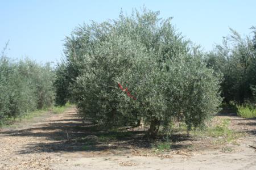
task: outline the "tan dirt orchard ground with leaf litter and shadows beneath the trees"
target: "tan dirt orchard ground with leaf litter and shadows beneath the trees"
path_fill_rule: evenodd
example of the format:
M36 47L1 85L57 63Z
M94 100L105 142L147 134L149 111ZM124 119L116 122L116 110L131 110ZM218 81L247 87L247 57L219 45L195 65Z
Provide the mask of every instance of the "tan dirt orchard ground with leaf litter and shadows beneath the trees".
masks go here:
M171 150L159 153L138 129L111 134L83 122L75 108L49 112L0 129L0 169L256 169L256 119L218 117L246 135L216 145L177 134Z

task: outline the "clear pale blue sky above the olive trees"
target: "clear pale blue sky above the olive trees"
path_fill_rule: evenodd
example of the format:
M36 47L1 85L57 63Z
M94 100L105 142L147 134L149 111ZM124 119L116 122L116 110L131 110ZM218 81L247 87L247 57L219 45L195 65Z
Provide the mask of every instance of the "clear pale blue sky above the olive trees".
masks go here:
M90 20L118 18L122 8L130 14L145 5L160 11L160 17L174 17L176 29L205 50L221 43L229 27L249 35L256 25L256 1L27 1L0 0L0 49L9 40L8 56L29 57L38 62L59 61L63 40L72 30Z

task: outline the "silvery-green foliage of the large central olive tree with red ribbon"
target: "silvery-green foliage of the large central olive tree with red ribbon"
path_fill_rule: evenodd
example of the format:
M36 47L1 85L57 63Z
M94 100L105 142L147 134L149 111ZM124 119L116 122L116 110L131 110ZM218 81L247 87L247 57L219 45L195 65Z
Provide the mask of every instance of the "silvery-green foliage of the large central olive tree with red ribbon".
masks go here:
M171 18L158 15L121 12L117 20L84 24L67 37L65 71L57 79L67 81L82 116L105 126L143 119L155 134L172 119L191 129L217 112L220 75L175 31Z

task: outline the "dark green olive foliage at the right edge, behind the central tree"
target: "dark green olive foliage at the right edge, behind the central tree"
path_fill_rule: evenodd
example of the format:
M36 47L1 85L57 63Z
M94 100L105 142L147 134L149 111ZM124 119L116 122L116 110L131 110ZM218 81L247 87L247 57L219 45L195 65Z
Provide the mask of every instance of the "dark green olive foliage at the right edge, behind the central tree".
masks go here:
M252 29L255 30L254 27ZM209 53L207 65L224 75L221 88L226 103L244 103L246 100L255 103L256 32L251 39L249 36L242 38L233 29L230 31L232 35L224 37L223 44L217 45L216 50Z

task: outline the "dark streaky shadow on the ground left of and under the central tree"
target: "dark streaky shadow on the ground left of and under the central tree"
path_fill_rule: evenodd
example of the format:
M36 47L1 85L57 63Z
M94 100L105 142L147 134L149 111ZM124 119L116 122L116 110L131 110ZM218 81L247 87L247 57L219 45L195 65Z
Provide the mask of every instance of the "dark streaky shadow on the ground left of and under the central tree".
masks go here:
M104 130L89 121L83 121L73 112L65 112L62 119L46 121L32 128L10 129L0 132L2 137L42 137L41 141L31 141L19 151L19 154L35 152L77 152L129 150L132 148L148 149L162 137L151 140L145 130L118 131ZM175 142L191 141L184 134L174 134ZM187 148L188 145L173 144L172 149Z

